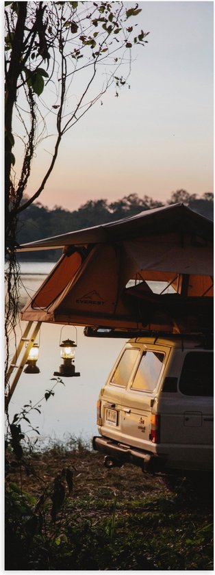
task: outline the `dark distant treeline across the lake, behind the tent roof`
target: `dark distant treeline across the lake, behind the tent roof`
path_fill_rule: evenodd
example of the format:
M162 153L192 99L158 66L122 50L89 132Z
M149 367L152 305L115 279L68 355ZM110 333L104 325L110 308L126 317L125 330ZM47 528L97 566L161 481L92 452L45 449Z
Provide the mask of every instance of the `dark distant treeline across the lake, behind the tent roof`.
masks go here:
M34 242L42 238L49 238L51 235L60 235L68 231L121 220L121 218L134 216L146 209L178 202L183 202L195 212L213 219L214 195L210 192L199 197L197 194L188 194L186 190L177 190L171 194L170 200L163 203L155 201L149 196L140 198L138 194L129 194L115 202L109 202L105 199L90 200L74 212L58 205L49 209L38 202L30 205L20 214L18 243ZM59 254L60 250L26 252L19 255L19 259L55 261Z

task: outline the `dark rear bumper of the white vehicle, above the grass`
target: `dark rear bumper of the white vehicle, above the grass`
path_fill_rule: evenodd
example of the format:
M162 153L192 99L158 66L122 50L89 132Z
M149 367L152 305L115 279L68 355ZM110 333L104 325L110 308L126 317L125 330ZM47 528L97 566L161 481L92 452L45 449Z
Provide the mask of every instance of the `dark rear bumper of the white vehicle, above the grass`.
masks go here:
M153 455L147 451L127 446L125 444L113 442L106 437L92 438L92 447L95 451L100 451L105 455L109 455L117 462L133 463L138 465L146 472L156 473L162 472L165 468L166 459Z

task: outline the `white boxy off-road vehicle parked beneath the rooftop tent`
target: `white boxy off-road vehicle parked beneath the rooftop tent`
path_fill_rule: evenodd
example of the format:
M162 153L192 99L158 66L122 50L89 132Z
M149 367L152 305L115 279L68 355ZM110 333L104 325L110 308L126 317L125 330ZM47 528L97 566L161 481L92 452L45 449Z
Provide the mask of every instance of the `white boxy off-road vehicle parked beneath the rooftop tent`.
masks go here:
M105 465L148 472L213 467L213 349L205 337L136 337L121 351L97 403L94 450Z

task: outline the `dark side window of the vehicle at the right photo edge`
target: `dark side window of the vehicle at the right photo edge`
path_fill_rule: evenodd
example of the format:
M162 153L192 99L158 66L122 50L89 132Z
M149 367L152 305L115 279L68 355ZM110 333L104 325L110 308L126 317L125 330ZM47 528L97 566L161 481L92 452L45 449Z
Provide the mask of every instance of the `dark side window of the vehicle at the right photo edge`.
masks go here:
M213 396L214 358L210 352L190 352L184 359L179 391L187 396Z

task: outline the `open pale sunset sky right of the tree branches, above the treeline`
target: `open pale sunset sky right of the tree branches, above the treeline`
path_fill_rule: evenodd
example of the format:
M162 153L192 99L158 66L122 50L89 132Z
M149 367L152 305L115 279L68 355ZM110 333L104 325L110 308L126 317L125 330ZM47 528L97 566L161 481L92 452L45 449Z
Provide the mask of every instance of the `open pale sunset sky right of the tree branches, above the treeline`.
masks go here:
M112 89L67 133L40 196L49 208L213 191L213 2L139 5L140 27L150 34L135 52L131 88L119 97ZM46 150L44 143L28 195L40 183Z

